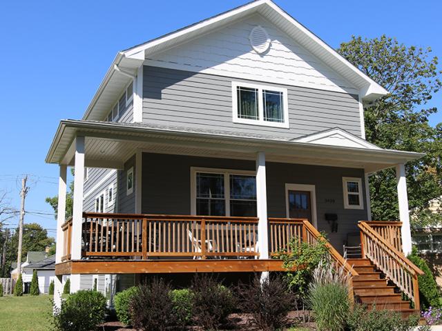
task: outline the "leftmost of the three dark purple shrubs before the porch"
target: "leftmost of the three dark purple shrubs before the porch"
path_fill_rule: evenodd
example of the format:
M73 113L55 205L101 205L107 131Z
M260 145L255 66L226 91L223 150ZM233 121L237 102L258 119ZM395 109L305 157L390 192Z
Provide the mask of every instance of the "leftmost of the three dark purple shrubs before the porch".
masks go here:
M169 296L171 285L154 278L141 285L129 303L134 328L141 330L169 330L177 324L173 302Z

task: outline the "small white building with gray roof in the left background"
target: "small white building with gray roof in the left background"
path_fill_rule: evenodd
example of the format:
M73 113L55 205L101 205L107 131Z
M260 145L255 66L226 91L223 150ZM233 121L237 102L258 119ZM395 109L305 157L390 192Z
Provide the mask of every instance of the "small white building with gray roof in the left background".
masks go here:
M40 261L29 263L28 265L23 266L22 270L21 277L26 289L30 287L34 270L37 270L40 293L47 294L50 282L55 278L55 255L51 255Z

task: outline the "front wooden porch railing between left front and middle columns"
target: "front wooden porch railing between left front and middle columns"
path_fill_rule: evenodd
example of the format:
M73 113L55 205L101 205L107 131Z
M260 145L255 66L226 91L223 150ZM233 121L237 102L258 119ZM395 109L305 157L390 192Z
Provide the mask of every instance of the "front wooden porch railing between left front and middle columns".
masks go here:
M86 257L258 257L256 217L83 215Z

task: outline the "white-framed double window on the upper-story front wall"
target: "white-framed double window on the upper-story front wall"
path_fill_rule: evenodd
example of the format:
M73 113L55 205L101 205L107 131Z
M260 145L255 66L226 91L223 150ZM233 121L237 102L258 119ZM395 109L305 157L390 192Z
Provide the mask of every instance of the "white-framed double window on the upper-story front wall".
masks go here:
M232 82L233 122L289 128L287 89Z

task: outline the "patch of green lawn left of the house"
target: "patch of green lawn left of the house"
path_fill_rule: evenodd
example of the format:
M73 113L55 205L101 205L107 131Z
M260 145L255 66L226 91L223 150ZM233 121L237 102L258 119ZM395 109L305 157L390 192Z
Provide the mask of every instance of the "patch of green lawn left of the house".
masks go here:
M0 330L43 331L50 326L51 296L0 297Z

